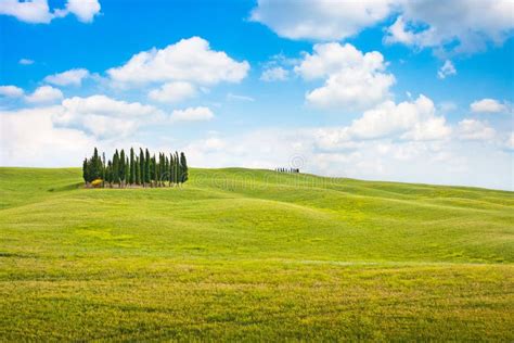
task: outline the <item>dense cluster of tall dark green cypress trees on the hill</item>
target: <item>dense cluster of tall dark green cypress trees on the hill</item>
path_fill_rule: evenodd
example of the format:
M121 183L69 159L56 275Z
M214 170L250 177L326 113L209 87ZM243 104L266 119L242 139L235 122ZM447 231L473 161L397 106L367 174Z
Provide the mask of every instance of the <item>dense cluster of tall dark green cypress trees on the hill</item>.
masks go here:
M85 158L82 177L86 186L94 187L171 187L188 181L188 161L183 152L150 155L147 149L139 149L139 155L130 148L114 152L113 158L106 161L105 153L100 157L97 148L90 158Z

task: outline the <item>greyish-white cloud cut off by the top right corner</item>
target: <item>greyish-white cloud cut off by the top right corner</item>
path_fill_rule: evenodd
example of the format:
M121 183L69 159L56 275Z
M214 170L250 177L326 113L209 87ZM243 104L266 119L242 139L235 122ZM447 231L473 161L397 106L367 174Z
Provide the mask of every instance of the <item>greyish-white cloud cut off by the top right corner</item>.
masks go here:
M401 1L400 12L386 42L470 53L502 43L514 28L511 0Z

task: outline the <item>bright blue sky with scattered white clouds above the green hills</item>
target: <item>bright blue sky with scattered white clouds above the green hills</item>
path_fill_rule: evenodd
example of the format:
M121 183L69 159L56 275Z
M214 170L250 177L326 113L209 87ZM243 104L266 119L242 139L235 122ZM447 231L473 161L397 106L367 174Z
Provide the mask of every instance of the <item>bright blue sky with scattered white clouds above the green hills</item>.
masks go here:
M510 0L0 0L0 165L93 147L514 189Z

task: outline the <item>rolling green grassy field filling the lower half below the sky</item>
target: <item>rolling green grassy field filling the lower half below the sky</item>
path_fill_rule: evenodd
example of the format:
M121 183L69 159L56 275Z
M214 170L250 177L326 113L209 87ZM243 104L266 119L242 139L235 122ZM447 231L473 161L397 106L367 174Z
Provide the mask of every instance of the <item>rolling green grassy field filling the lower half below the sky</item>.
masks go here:
M514 340L514 193L0 168L0 340Z

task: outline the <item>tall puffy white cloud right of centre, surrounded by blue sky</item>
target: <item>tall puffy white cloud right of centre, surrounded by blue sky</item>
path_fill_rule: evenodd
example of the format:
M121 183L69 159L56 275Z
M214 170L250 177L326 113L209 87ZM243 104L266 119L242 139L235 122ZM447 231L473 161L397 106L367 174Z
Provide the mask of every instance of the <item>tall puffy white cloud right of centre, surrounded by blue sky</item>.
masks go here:
M306 53L295 72L307 80L325 78L322 87L306 94L308 103L322 109L359 111L389 97L395 77L385 68L380 52L362 53L349 43L333 42L316 45L313 53Z

